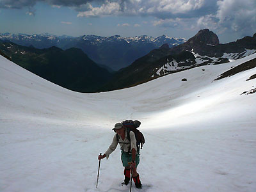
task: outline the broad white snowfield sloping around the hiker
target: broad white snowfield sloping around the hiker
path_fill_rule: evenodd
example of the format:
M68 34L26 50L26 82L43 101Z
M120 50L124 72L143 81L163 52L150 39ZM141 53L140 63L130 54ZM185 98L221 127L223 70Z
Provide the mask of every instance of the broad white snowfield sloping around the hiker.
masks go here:
M214 81L256 54L133 88L77 93L0 57L0 191L129 191L119 147L100 164L116 122L140 120L142 189L256 191L256 68ZM204 69L204 70L203 70ZM181 81L186 78L188 81Z

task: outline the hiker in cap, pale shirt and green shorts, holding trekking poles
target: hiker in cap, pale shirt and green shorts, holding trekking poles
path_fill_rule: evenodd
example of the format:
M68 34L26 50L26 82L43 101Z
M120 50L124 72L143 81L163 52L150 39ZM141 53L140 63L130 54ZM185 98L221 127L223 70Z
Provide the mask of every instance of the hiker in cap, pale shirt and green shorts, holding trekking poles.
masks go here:
M124 184L128 185L129 181L131 180L131 168L132 168L132 179L134 180L136 188L141 189L141 181L139 173L137 172L137 166L140 163L140 154L136 147L136 138L135 134L132 131L127 131L127 128L124 127L123 124L117 123L115 127L112 129L117 134L115 134L111 145L109 146L108 150L105 152L103 156L99 155L98 159L103 159L105 157L109 157L109 155L116 149L117 144L120 144L122 150L122 163L124 166ZM130 134L130 140L127 134ZM131 162L131 165L128 164Z

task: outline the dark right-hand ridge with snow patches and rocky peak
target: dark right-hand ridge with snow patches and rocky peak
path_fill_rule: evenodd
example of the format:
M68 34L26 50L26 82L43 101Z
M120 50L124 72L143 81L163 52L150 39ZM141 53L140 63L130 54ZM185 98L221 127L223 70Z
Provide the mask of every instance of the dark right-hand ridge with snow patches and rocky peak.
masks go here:
M217 65L243 58L256 52L256 35L245 36L236 42L220 44L218 36L202 29L184 44L163 45L119 70L113 79L102 86L103 91L145 83L157 77L202 65Z

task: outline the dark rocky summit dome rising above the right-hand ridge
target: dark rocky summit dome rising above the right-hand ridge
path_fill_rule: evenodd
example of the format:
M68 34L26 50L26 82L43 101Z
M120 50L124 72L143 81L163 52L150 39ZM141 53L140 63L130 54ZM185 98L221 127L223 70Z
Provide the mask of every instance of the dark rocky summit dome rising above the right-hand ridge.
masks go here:
M218 36L209 29L201 29L195 36L189 38L186 44L193 45L218 45L220 44Z

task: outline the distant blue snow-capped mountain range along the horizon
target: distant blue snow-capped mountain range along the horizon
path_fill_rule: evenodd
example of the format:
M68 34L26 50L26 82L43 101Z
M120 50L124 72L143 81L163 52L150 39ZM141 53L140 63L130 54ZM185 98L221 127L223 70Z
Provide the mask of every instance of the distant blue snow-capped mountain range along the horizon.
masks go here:
M26 34L0 34L1 40L10 40L11 42L23 46L33 46L38 49L45 49L52 46L63 50L72 47L81 49L90 59L101 66L106 66L110 70L119 70L127 67L138 58L141 58L153 49L168 44L169 47L183 44L184 38L171 38L168 36L135 36L121 37L115 36L95 36L84 35L79 37L72 36L54 36L49 34L26 35Z

